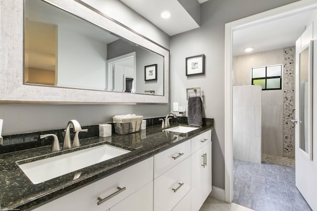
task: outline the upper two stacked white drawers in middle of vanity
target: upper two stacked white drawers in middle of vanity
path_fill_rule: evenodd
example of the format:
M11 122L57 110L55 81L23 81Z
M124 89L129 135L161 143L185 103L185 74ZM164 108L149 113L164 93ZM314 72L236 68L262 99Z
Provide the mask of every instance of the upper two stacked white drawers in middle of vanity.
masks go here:
M191 189L190 140L154 156L154 211L171 211Z

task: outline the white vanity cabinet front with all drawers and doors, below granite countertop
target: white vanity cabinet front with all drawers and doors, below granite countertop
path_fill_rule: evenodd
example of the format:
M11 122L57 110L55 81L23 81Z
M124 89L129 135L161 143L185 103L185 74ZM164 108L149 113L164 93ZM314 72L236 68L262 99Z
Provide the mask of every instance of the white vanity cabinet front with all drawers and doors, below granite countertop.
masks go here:
M208 130L35 210L198 211L212 189L211 132Z

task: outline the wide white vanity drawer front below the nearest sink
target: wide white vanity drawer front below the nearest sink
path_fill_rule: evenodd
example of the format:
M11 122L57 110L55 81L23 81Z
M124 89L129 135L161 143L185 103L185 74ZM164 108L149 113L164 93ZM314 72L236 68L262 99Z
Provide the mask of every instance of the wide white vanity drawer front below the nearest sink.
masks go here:
M36 211L105 211L153 180L153 157L49 202ZM120 191L119 188L122 188ZM100 205L105 199L118 193Z

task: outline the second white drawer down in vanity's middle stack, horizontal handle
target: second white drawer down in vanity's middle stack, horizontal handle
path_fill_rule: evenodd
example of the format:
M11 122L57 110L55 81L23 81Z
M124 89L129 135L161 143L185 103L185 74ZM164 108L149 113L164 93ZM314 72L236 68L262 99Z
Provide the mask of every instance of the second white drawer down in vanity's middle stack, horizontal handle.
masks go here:
M191 189L191 159L169 169L154 180L154 211L170 211Z

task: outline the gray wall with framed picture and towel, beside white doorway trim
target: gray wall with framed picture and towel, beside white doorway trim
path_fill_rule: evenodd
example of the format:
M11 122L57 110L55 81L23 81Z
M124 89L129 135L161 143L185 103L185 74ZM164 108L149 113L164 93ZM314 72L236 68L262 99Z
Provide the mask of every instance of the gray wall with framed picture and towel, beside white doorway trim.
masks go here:
M204 110L214 118L212 183L224 189L224 26L225 23L297 0L209 0L201 4L201 27L171 37L171 103L187 106L186 88L201 86ZM185 58L205 54L203 76L185 76Z

